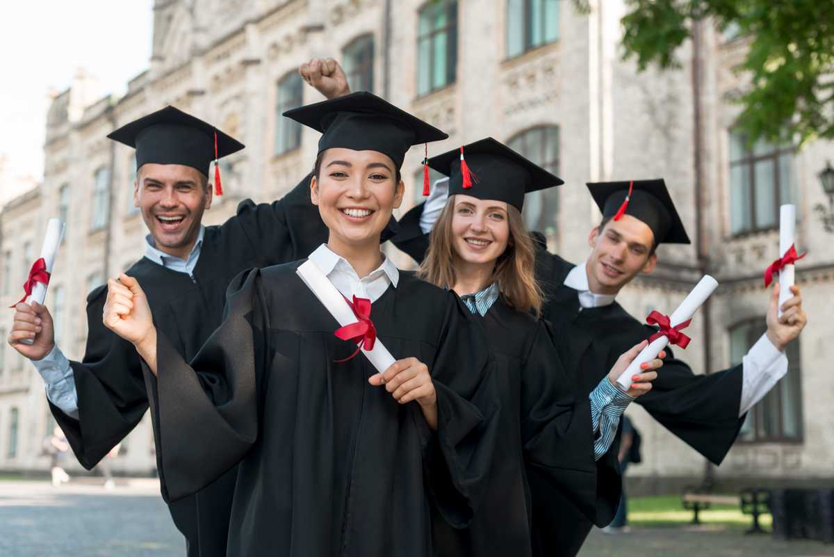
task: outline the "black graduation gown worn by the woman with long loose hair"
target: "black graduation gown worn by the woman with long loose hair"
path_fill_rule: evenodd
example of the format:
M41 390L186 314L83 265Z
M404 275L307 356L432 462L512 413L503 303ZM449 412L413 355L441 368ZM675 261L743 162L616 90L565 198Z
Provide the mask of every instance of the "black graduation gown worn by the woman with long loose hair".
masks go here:
M527 471L548 491L565 494L575 507L601 524L613 518L619 490L597 499L597 464L590 422L590 401L574 401L572 379L565 373L550 327L545 321L512 309L498 299L483 316L475 316L490 339L501 393L501 427L490 491L467 529L453 529L435 519L435 554L532 554L532 497ZM607 474L619 474L616 462L604 461Z

